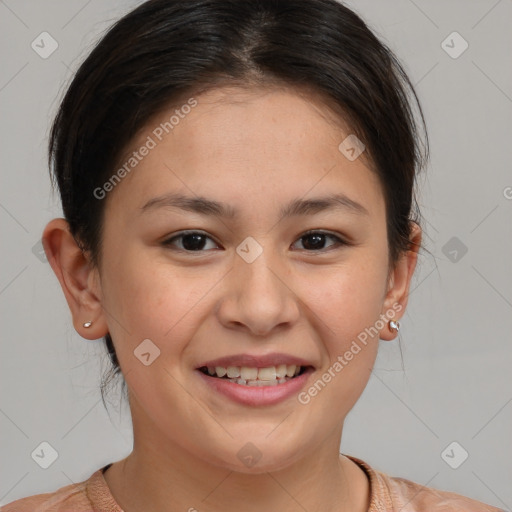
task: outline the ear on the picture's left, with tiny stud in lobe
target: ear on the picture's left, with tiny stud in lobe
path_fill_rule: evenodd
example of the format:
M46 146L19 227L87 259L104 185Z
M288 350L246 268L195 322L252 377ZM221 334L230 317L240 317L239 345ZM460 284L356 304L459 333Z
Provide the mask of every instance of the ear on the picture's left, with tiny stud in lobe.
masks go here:
M105 336L108 326L101 305L99 273L77 245L66 219L51 220L43 231L42 243L66 297L76 332L89 340ZM92 325L86 328L85 322Z

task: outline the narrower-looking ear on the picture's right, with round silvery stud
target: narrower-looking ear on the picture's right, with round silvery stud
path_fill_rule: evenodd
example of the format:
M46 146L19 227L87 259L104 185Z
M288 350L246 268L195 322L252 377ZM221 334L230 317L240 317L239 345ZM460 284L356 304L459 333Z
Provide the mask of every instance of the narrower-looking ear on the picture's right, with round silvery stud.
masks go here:
M388 278L387 292L381 312L387 320L386 325L380 332L380 338L386 341L393 340L396 337L396 332L390 330L388 322L389 320L399 320L405 312L409 298L409 287L418 260L418 251L421 245L421 228L412 221L409 240L409 250L399 258Z

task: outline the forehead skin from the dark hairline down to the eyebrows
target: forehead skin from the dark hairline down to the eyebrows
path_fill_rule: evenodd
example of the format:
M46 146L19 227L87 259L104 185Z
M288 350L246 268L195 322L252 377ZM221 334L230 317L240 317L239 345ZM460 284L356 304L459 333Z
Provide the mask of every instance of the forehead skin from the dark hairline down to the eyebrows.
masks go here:
M337 187L378 208L380 187L364 153L350 161L339 150L349 135L344 120L317 97L283 88L213 89L146 124L119 165L144 145L151 149L112 195L129 196L141 208L173 190L217 194L225 202L250 202L258 194L288 202Z

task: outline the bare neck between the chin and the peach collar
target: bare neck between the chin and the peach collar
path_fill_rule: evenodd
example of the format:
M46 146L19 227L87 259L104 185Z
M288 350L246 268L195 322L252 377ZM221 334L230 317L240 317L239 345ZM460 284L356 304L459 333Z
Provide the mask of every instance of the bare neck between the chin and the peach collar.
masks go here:
M295 463L259 474L210 464L177 445L135 443L104 476L124 512L366 512L368 480L338 453L339 440L333 436Z

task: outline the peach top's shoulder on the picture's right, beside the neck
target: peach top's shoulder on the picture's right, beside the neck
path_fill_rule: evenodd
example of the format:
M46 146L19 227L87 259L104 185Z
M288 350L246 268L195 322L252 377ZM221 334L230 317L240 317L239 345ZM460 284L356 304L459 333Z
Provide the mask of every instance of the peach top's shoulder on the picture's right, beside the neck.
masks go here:
M372 468L365 461L347 455L359 465L370 480L370 509L368 512L504 512L460 494L389 476Z

